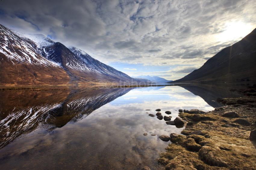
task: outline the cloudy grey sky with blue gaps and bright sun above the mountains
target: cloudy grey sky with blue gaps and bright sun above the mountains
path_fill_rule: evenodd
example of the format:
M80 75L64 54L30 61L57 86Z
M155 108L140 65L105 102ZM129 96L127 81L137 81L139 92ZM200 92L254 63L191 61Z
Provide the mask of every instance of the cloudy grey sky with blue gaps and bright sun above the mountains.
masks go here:
M176 80L256 28L256 0L1 0L0 24L129 76Z

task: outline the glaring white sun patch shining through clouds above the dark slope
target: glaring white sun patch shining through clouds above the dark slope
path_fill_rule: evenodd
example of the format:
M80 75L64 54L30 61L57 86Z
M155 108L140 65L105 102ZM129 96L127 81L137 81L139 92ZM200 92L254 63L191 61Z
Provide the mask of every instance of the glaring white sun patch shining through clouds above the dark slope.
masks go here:
M242 39L253 30L253 26L243 22L229 22L225 25L224 31L217 35L221 42Z

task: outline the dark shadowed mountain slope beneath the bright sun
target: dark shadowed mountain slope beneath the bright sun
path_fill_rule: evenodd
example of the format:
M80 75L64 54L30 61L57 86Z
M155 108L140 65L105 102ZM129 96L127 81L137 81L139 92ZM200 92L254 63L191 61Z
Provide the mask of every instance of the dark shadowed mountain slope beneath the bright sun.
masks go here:
M256 28L239 42L226 47L180 82L242 82L256 80Z

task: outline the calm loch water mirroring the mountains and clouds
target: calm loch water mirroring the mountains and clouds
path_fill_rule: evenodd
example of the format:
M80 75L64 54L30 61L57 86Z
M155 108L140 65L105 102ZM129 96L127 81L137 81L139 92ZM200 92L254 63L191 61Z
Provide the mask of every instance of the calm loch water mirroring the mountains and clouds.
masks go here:
M225 94L212 87L76 88L0 91L1 169L159 169L183 128L148 116L155 109L213 110ZM207 94L205 94L207 93ZM146 111L150 109L150 111ZM147 136L143 134L147 133ZM155 134L155 136L151 136Z

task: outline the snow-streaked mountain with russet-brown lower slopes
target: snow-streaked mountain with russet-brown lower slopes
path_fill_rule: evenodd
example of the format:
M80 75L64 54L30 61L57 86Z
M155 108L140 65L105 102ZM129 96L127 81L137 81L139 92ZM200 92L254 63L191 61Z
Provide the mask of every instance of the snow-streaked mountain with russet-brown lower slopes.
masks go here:
M42 34L22 34L0 25L0 85L142 82Z

